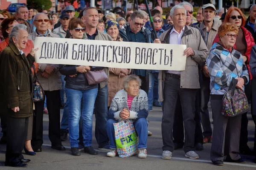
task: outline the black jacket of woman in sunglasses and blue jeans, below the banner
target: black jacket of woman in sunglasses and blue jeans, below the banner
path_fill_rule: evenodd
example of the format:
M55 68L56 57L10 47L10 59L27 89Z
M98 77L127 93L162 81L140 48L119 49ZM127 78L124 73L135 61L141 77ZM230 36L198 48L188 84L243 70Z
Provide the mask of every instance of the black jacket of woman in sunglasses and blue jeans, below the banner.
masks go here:
M77 65L61 65L59 71L61 74L66 75L66 88L71 88L74 90L89 90L92 88L97 88L98 85L88 85L87 79L84 73L79 73L76 71ZM103 70L104 67L91 67L91 71ZM68 75L77 74L76 77L69 77Z

